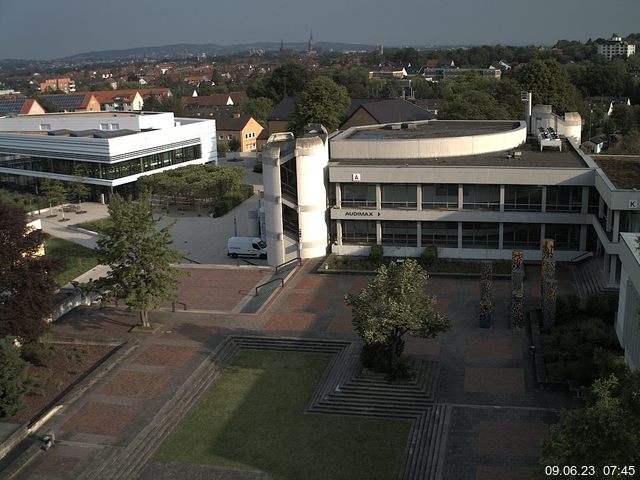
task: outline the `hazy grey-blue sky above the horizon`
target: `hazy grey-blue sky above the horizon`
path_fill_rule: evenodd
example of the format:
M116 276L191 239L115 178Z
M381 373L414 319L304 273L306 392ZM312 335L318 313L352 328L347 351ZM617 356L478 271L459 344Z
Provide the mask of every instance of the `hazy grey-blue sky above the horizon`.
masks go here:
M639 0L0 0L0 58L175 43L551 45L640 31Z

